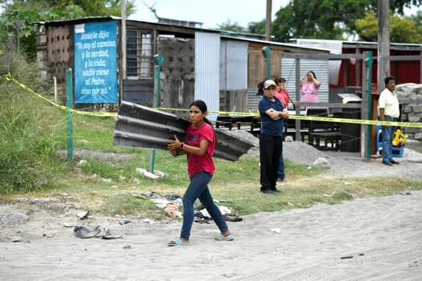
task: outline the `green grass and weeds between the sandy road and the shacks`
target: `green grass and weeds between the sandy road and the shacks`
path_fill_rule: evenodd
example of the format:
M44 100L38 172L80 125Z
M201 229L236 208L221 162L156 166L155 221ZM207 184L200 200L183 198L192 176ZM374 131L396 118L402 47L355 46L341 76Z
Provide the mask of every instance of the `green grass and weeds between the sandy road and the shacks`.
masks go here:
M0 62L3 58L0 56ZM16 60L14 60L16 61ZM17 69L17 70L16 70ZM34 65L19 60L16 78L40 90ZM34 81L36 80L36 81ZM50 197L52 201L78 204L91 212L165 219L152 201L132 193L155 191L160 195L184 195L189 184L186 157L173 158L157 150L155 169L166 176L159 182L143 178L137 168L148 169L151 151L115 147L115 119L75 114L74 147L130 154L126 160L85 158L85 164L58 158L66 147L65 112L49 106L0 77L0 201L16 197ZM420 150L419 150L420 151ZM421 151L422 152L422 151ZM225 200L241 215L309 208L315 204L338 204L359 198L384 196L398 191L422 189L422 182L405 178L327 178L325 170L285 161L287 182L281 195L259 192L259 160L236 162L215 159L216 174L210 182L214 199ZM63 193L69 196L63 197Z

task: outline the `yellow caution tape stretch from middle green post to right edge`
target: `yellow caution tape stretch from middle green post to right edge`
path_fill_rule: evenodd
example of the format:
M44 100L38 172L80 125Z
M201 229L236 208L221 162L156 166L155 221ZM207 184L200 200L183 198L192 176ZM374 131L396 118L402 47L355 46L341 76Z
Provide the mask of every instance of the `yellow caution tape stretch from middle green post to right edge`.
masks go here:
M187 109L179 109L179 108L157 108L157 109L158 110L173 110L173 111L188 111ZM216 113L216 114L220 114L220 115L229 115L229 116L253 116L253 117L259 117L260 116L258 112L232 112L232 111L226 112L226 111L209 110L208 113ZM326 121L326 122L337 122L337 123L352 123L352 124L362 124L362 125L388 125L388 126L422 128L422 123L414 123L414 122L392 122L392 121L333 118L333 117L317 117L317 116L302 116L302 115L289 115L289 119Z

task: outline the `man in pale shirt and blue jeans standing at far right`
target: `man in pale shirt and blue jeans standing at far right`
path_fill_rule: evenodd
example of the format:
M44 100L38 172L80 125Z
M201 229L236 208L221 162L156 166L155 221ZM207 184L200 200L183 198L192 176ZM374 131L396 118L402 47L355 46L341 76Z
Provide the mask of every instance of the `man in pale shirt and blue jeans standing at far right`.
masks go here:
M384 80L386 89L379 95L379 119L381 121L397 121L400 116L399 99L395 93L396 79L388 76ZM381 130L382 136L382 162L387 166L392 164L399 164L399 162L392 159L392 138L394 138L396 127L383 125Z

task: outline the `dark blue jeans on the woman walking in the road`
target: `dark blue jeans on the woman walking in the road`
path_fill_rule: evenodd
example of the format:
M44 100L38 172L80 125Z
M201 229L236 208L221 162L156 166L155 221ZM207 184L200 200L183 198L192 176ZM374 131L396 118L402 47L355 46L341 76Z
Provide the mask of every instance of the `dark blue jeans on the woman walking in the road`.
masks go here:
M221 215L219 207L214 203L212 199L208 183L212 179L212 175L206 172L196 173L190 178L190 184L186 193L183 197L183 224L181 225L180 237L183 239L189 239L190 229L192 228L195 211L193 210L193 204L196 199L201 201L201 204L208 210L208 213L219 227L221 232L228 230L227 223L223 215Z

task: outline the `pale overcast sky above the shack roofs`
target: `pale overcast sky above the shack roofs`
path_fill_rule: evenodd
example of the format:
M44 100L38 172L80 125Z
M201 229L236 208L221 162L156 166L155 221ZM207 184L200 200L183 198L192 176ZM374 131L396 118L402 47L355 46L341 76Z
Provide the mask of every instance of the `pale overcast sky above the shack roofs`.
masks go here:
M155 3L157 15L162 18L182 21L198 21L204 28L214 28L226 23L238 23L247 27L247 23L262 21L266 16L266 0L135 0L137 12L129 19L136 21L157 22L153 12L146 5ZM289 0L272 0L272 16L280 7L285 7Z

